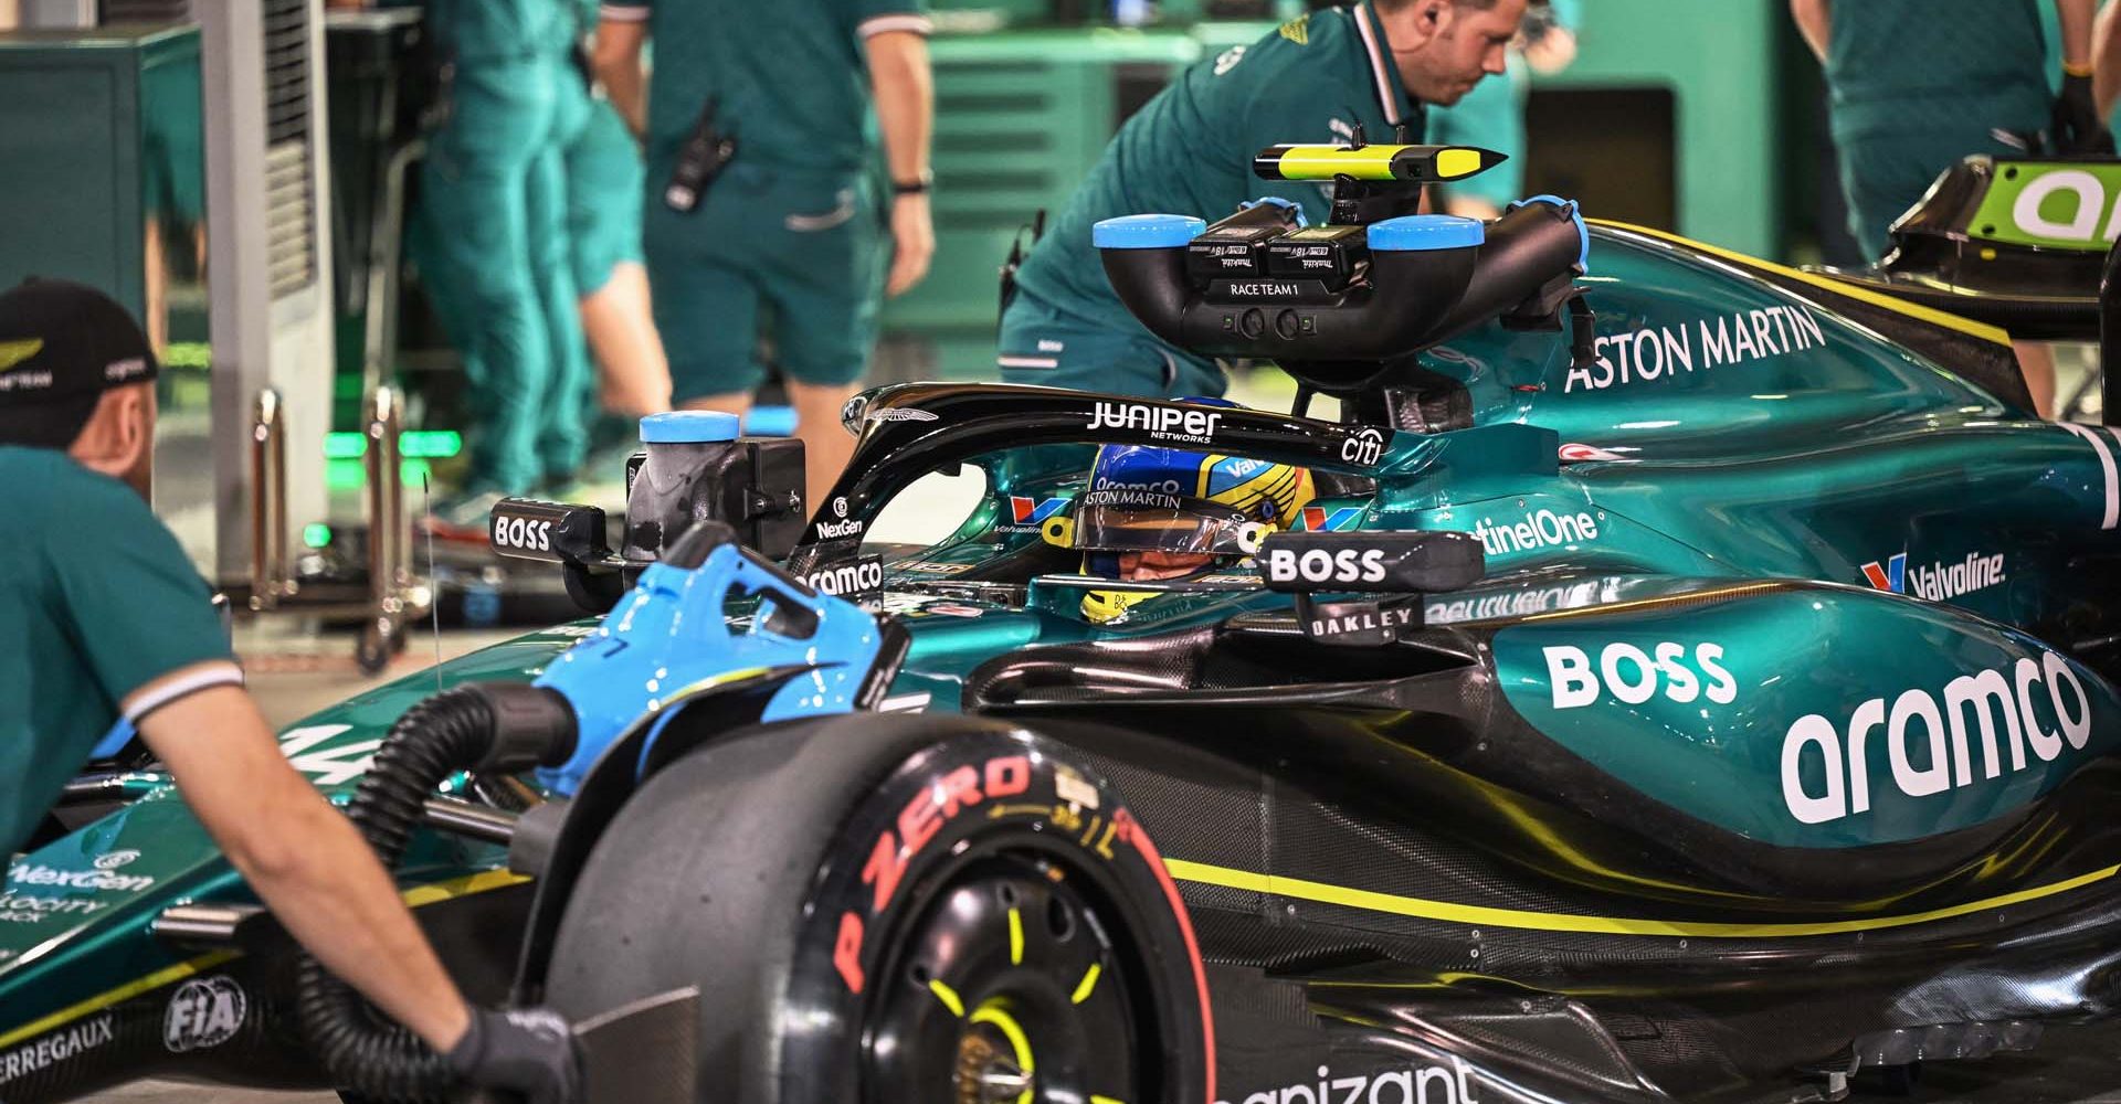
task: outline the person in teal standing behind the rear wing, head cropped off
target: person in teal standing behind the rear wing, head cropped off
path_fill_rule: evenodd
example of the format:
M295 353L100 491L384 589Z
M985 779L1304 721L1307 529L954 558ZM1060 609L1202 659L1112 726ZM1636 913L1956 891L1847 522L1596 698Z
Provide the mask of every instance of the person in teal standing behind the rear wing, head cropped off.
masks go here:
M2045 133L2057 153L2113 148L2091 87L2098 0L2053 0L2062 19L2062 93L2049 91L2034 0L1790 0L1826 66L1850 233L1871 261L1890 227L1962 157L2019 150L2002 133ZM2047 345L2017 343L2040 415L2055 405Z

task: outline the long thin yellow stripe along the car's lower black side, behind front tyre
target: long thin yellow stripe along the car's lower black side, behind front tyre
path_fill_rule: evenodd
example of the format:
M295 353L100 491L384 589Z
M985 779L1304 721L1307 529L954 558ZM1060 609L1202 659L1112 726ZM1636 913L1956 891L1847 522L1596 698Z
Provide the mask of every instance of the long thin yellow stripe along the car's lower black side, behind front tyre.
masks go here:
M2034 886L2030 890L2017 890L2002 896L1987 896L1981 901L1968 901L1964 905L1949 905L1943 909L1930 909L1924 913L1907 913L1907 915L1869 915L1862 920L1826 920L1809 924L1707 924L1695 920L1637 920L1637 918L1612 918L1612 915L1533 913L1521 909L1491 909L1485 905L1455 905L1449 901L1425 901L1419 896L1351 890L1347 886L1328 886L1326 882L1307 882L1302 877L1279 877L1254 871L1232 871L1228 867L1188 862L1184 858L1164 858L1164 869L1169 869L1171 877L1177 877L1179 882L1198 882L1203 886L1224 886L1230 890L1251 890L1296 901L1317 901L1321 905L1343 905L1349 909L1364 909L1372 913L1413 915L1419 920L1442 920L1449 924L1529 928L1540 932L1665 934L1684 939L1773 939L1773 937L1845 934L1845 932L1875 932L1881 928L1907 928L1913 924L1928 924L1932 920L1951 920L1956 915L1981 913L1989 909L2021 905L2026 901L2038 901L2043 896L2053 896L2098 882L2106 882L2115 873L2121 873L2121 865L2115 865L2102 871L2091 871L2049 886Z

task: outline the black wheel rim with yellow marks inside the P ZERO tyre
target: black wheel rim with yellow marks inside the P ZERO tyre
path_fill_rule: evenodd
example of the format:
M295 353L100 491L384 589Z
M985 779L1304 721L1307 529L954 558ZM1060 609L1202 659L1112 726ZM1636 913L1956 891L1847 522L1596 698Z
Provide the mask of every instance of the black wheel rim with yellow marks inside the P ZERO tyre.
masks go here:
M867 1100L1143 1104L1154 1009L1094 871L1044 848L967 850L906 915L867 1009Z

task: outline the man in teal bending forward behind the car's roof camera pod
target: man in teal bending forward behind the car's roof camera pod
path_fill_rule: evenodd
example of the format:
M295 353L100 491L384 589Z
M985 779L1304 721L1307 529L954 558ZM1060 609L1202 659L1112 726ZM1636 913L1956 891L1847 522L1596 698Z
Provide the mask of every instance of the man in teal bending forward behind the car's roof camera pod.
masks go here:
M1194 214L1209 222L1279 193L1324 222L1313 184L1251 176L1277 142L1368 142L1423 136L1423 104L1455 104L1504 55L1525 0L1364 0L1311 13L1249 47L1203 59L1150 100L1105 146L1090 178L1016 273L1001 314L997 364L1012 384L1145 396L1220 396L1222 369L1162 343L1105 280L1090 227L1122 214Z

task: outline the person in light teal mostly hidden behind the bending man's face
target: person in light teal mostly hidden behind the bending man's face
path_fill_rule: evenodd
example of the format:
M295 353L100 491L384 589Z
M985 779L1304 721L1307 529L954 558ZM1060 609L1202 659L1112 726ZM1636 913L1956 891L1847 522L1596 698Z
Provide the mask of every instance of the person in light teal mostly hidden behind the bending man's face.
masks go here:
M1510 72L1480 81L1449 108L1430 110L1430 142L1483 146L1508 161L1466 180L1440 184L1444 210L1466 218L1497 218L1525 197L1525 95L1531 74L1555 74L1576 59L1582 0L1533 0L1523 44L1510 49Z

